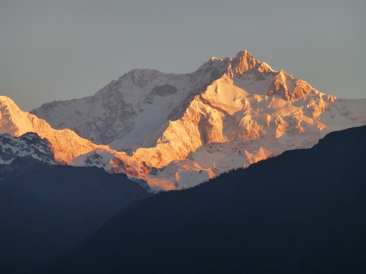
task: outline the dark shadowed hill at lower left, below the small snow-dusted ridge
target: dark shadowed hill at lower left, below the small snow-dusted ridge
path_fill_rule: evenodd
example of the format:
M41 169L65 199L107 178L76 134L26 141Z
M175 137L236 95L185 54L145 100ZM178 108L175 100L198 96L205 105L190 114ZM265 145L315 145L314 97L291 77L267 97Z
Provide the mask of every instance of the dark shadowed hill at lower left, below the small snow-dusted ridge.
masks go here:
M102 168L31 157L0 165L1 273L40 273L128 203L150 195L125 174Z

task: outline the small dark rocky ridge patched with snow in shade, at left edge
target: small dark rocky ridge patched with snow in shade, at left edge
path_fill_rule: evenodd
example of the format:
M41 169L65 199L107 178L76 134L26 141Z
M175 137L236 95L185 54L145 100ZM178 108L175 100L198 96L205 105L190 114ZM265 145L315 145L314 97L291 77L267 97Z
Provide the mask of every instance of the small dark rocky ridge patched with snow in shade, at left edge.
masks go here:
M52 145L33 132L20 137L13 137L8 133L0 134L0 164L10 164L15 157L32 157L56 164Z

